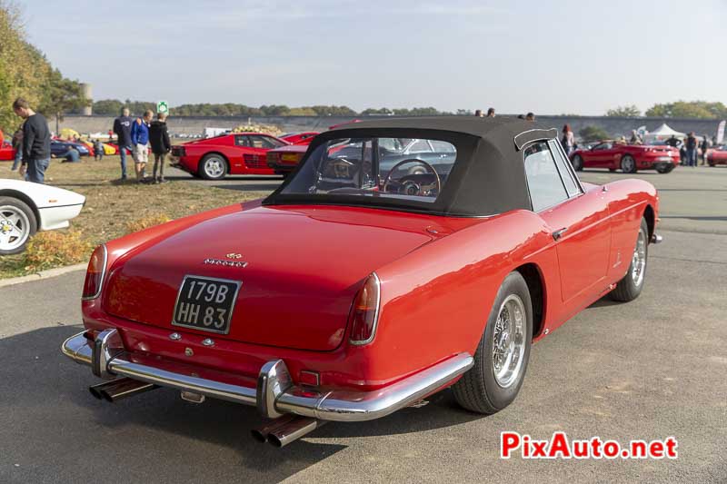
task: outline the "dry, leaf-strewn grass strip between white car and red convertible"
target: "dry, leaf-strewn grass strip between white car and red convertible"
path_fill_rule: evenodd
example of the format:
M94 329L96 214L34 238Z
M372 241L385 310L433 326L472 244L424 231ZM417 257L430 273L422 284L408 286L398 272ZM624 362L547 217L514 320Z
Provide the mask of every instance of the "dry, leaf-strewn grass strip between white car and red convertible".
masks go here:
M133 181L121 183L118 180L118 156L105 156L100 162L87 157L82 160L81 163L59 163L53 160L45 176L48 184L85 195L84 210L71 221L71 229L80 232L80 240L90 246L155 223L265 195L261 192L214 188L206 183L184 180L149 185ZM128 162L133 176L134 163L131 159ZM17 174L10 172L10 163L0 163L0 177L15 178ZM35 272L35 269L26 269L32 265L26 262L26 257L26 254L0 257L0 278ZM43 268L61 265L65 264L58 262Z

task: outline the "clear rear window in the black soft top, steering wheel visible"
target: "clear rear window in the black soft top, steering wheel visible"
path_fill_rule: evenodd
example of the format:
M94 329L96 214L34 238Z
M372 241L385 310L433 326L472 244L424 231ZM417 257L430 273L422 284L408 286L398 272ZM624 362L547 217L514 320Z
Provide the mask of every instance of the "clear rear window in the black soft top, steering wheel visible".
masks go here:
M443 140L338 138L318 145L281 193L435 202L456 159Z

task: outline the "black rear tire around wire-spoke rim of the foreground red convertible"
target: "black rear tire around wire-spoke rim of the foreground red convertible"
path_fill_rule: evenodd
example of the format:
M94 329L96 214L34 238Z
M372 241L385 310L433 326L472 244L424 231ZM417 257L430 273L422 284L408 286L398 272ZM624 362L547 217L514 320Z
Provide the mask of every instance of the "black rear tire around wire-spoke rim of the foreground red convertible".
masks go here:
M503 306L511 295L515 295L523 302L524 331L523 331L523 357L517 376L507 388L503 388L495 379L493 370L493 331L495 323ZM530 299L528 285L520 272L510 272L497 296L494 299L493 309L487 319L483 338L474 353L474 366L464 373L462 379L453 387L454 399L464 409L477 413L491 414L505 407L515 400L520 387L523 386L525 371L530 359L530 347L533 340L533 303Z

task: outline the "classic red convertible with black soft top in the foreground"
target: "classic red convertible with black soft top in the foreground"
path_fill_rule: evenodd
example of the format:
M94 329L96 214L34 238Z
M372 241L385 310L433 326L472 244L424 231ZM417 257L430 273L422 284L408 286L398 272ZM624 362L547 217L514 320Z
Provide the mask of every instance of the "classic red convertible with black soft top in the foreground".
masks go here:
M62 351L107 380L99 399L251 405L275 446L446 388L503 410L533 341L605 294L637 298L661 240L653 186L581 183L557 135L466 116L319 134L264 200L97 247ZM402 159L401 139L452 155Z

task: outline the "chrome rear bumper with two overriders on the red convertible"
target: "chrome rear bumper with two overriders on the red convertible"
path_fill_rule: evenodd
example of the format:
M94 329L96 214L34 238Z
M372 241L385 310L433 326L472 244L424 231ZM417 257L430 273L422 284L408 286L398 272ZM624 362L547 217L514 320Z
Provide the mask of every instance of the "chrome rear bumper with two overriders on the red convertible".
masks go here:
M256 406L267 418L286 413L320 420L374 420L403 409L446 385L473 366L469 353L460 353L399 380L380 390L316 390L293 384L283 360L263 365L256 386L223 380L243 380L218 372L220 379L202 378L188 370L192 367L147 358L136 361L125 351L116 330L106 330L89 341L84 333L64 341L61 351L77 363L90 366L102 378L128 377L210 398ZM209 372L208 372L209 373Z

